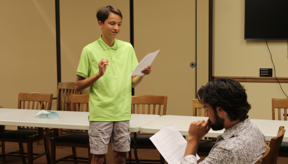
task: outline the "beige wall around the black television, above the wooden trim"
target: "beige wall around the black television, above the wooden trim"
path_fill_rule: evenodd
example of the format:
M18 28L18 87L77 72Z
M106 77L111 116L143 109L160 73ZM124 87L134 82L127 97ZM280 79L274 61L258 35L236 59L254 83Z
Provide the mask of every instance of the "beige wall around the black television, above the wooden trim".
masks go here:
M273 68L265 41L244 40L244 4L244 0L214 1L214 76L258 77L259 68ZM276 76L287 77L287 41L267 42Z

